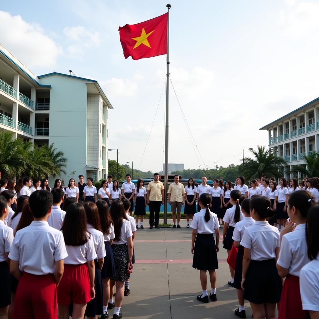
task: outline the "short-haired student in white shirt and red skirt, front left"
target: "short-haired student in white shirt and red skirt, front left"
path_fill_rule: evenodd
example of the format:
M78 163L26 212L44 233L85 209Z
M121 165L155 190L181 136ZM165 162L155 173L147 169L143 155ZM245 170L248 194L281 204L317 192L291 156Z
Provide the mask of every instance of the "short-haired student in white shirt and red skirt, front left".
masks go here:
M13 318L57 318L56 286L68 254L62 233L47 222L52 203L48 191L32 193L29 205L34 221L15 234L9 254L10 271L19 280Z

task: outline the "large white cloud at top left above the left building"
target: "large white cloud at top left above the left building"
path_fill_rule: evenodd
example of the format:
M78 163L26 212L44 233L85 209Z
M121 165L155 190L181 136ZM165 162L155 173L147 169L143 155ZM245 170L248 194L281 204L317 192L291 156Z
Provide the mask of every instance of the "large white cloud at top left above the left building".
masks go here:
M54 66L63 50L37 23L0 11L0 41L27 67Z

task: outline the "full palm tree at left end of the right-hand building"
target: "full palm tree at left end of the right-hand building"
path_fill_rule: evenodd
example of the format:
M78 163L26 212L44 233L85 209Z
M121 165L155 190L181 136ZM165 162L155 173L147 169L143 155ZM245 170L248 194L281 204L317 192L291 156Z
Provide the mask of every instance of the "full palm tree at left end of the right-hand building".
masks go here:
M287 162L278 156L272 154L265 146L257 145L257 151L250 151L254 158L244 158L244 175L246 179L260 177L262 175L269 177L281 177L283 175L283 166Z

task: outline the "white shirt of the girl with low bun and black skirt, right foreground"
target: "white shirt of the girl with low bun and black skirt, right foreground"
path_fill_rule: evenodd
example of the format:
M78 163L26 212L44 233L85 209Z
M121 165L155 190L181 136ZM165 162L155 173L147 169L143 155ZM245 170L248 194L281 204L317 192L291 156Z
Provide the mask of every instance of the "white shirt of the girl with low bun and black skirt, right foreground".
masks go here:
M250 249L251 260L268 260L276 257L280 234L277 227L268 221L256 221L245 229L241 246Z

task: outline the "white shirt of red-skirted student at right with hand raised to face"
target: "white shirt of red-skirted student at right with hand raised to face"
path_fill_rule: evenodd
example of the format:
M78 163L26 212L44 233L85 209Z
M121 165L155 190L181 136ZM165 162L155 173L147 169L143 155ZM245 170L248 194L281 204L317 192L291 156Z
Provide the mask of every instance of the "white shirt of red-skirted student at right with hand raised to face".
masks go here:
M299 277L301 268L309 261L306 224L300 224L296 226L293 232L282 237L277 263L279 266L289 269L289 274Z

